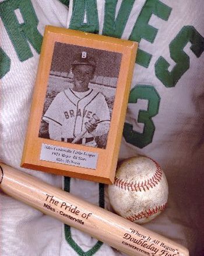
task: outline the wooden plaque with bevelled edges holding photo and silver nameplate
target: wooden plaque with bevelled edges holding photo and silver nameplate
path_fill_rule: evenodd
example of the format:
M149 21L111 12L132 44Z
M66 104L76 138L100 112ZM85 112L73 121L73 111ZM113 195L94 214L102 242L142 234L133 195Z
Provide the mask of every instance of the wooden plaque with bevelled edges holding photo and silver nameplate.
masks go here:
M137 47L45 28L22 167L114 181Z

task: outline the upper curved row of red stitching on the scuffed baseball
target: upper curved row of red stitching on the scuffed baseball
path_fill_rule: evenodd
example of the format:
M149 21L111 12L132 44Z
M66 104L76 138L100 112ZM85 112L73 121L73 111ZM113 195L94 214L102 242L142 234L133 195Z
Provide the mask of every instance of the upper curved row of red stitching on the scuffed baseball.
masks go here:
M149 178L145 181L137 183L134 181L126 182L124 181L124 179L119 179L115 177L114 185L124 190L127 189L128 191L136 191L136 192L142 191L142 190L146 191L146 190L149 190L150 188L153 188L153 186L156 186L161 181L161 177L162 177L161 167L159 166L159 164L157 164L156 161L154 161L151 158L149 159L152 160L156 165L156 171L152 178Z

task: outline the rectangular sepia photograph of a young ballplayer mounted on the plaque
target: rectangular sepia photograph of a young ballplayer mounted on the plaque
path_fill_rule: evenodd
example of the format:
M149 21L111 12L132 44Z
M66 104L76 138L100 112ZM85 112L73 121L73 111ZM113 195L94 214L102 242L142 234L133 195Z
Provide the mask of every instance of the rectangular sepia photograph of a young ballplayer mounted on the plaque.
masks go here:
M38 137L105 148L121 58L56 42Z

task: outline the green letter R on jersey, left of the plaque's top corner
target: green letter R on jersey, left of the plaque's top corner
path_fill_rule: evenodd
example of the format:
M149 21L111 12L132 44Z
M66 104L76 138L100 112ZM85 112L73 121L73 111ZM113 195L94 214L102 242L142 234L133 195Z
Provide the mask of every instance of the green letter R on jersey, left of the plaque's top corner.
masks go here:
M20 61L33 56L28 41L40 53L43 37L37 30L38 19L30 0L3 1L0 15Z

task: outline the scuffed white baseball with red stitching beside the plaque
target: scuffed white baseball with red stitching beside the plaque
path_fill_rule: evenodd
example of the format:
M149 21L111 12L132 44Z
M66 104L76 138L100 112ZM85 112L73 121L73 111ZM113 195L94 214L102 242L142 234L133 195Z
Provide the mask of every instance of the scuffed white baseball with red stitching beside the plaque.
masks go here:
M167 206L167 179L151 158L128 158L119 164L108 196L118 215L138 224L147 223Z

